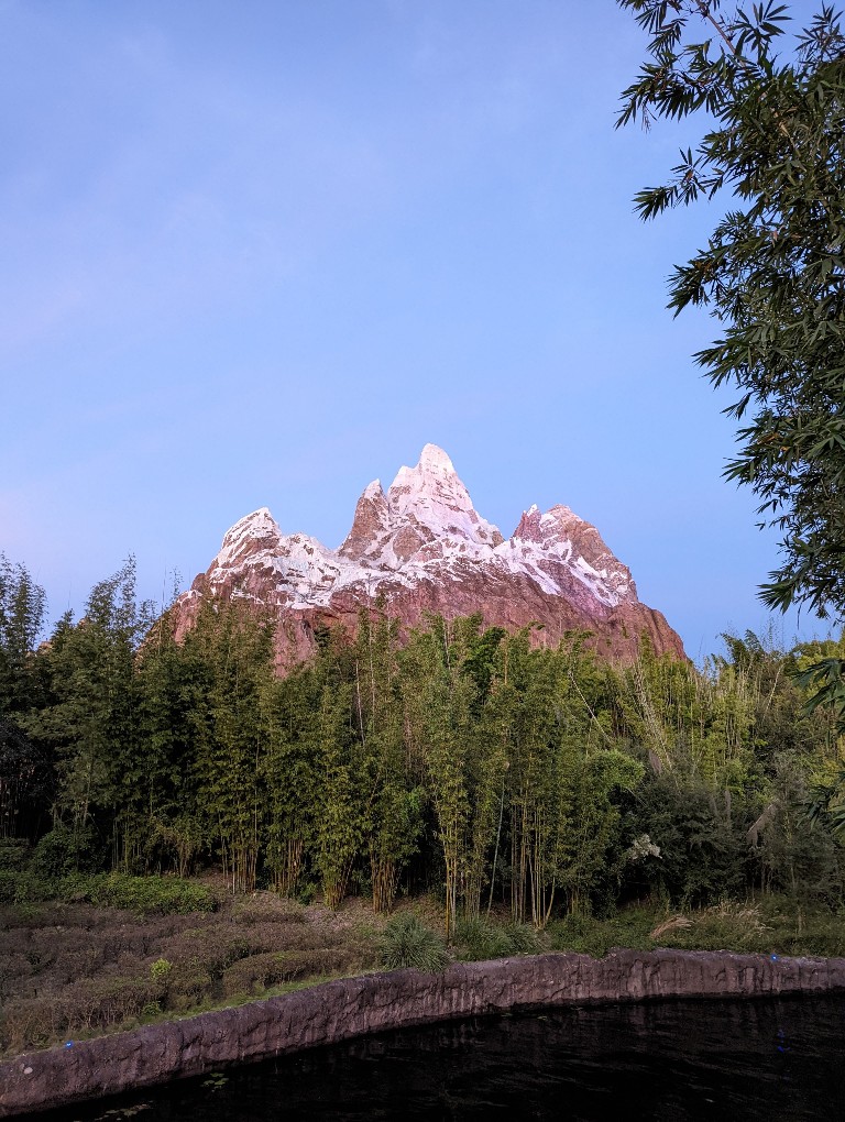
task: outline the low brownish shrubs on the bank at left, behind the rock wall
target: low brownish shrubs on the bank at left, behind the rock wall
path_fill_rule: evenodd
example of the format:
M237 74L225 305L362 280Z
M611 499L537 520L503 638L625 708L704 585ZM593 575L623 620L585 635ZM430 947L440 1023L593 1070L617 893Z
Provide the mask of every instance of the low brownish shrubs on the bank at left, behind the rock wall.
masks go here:
M77 880L76 889L80 884ZM356 929L292 922L270 894L215 914L127 916L79 899L0 916L0 1052L246 1001L374 965ZM249 918L248 922L244 922ZM298 980L291 982L285 980Z

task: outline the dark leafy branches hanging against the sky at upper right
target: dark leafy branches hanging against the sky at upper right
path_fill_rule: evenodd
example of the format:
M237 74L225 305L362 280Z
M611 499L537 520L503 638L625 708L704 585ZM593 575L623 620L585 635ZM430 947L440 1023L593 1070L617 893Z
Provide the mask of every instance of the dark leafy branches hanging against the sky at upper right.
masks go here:
M845 36L821 8L784 50L788 6L723 13L702 0L618 0L650 35L650 61L618 123L705 111L705 135L670 181L641 192L653 218L729 191L707 246L676 268L670 307L709 307L723 334L698 356L732 385L741 444L726 476L747 484L782 534L763 586L773 607L845 606ZM692 26L688 26L692 20ZM745 415L754 414L750 422Z

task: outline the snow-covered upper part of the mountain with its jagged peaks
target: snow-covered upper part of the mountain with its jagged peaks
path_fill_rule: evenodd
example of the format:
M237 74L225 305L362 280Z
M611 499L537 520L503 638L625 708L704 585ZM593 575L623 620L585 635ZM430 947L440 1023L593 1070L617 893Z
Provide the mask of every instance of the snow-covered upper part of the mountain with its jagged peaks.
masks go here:
M481 572L485 579L527 578L550 596L580 588L578 595L605 607L636 599L627 568L568 507L541 513L533 504L504 541L437 444L423 448L415 467L399 468L386 493L378 479L367 485L337 551L305 534L284 536L266 506L248 514L223 539L208 576L217 587L236 572L245 574L239 595L252 596L272 572L274 601L291 607L325 606L341 590L371 596L384 582L410 589Z

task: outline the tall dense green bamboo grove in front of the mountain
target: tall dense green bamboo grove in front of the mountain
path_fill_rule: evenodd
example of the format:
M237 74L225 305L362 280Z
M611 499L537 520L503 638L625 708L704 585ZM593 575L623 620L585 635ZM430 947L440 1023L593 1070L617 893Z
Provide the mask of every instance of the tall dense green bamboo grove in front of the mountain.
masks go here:
M378 911L433 892L447 931L645 895L843 898L837 800L817 798L842 746L795 678L842 644L726 636L704 669L644 644L613 666L585 634L551 647L480 616L399 642L374 607L279 678L245 601L202 604L178 644L131 562L36 650L43 614L3 560L0 830L45 875L217 867L235 892Z

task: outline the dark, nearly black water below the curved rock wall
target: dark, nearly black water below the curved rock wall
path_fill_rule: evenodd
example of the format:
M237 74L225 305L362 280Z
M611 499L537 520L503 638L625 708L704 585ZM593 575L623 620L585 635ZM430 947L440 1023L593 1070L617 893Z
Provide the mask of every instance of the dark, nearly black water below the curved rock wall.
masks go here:
M845 1119L845 997L479 1018L184 1080L50 1118Z

